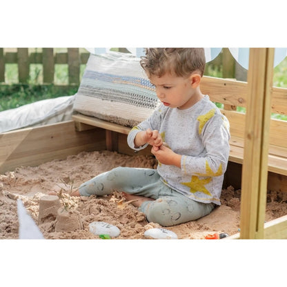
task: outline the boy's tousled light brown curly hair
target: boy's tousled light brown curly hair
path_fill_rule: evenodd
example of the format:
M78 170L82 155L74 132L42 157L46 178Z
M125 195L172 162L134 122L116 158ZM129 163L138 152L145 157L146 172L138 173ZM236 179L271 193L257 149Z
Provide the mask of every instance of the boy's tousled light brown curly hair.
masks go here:
M161 77L166 73L188 77L195 71L202 77L206 57L204 48L146 48L146 56L141 57L140 63L148 77Z

